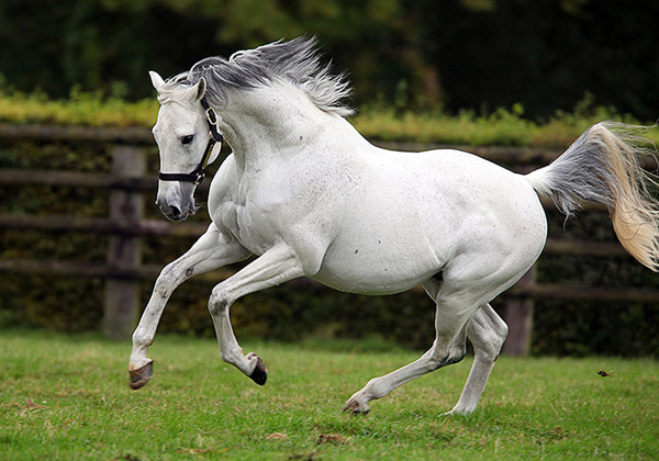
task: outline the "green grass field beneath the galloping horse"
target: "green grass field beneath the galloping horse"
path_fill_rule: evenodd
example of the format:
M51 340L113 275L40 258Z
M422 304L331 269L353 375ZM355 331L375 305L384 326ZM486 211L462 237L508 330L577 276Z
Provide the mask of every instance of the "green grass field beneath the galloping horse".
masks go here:
M659 458L659 362L502 357L476 413L443 417L470 359L340 414L368 379L418 353L344 342L246 344L264 387L214 341L158 336L153 381L127 387L130 344L0 333L3 460L491 460ZM373 349L373 350L370 350ZM601 378L596 371L614 371Z

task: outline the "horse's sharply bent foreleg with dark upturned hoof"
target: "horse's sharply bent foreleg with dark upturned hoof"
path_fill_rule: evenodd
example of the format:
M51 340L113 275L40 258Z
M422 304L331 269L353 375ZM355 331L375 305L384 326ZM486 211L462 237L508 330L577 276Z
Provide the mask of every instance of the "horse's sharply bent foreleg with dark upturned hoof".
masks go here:
M209 312L213 317L222 360L236 367L257 384L266 383L266 366L254 352L243 355L231 326L228 310L241 296L302 276L304 269L294 251L281 244L213 289L209 300Z

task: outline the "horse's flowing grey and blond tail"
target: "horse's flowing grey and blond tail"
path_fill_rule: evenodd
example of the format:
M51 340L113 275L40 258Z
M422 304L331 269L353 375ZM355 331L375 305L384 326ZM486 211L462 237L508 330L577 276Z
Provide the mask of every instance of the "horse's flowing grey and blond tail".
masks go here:
M540 196L551 196L570 217L585 201L606 205L618 240L638 262L659 271L659 191L640 166L644 139L635 127L597 123L549 166L526 178Z

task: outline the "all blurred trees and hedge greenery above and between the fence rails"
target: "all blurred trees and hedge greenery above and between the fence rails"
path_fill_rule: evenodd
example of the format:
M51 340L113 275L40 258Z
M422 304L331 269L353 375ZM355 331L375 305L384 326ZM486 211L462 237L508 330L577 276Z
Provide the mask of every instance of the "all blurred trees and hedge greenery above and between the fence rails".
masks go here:
M158 105L148 70L171 76L210 55L311 34L349 74L353 123L371 139L566 147L603 119L657 120L657 23L659 2L626 0L3 0L0 121L149 127ZM0 168L109 171L109 146L3 140ZM0 187L0 213L108 215L104 191ZM602 213L549 218L555 236L613 238ZM191 244L145 238L143 259L164 265ZM0 231L0 258L103 261L107 245L102 235ZM546 257L538 281L659 288L624 258ZM181 286L160 330L212 336L209 292ZM102 297L101 280L3 274L0 328L97 329ZM280 340L375 337L425 349L434 337L434 306L418 292L283 285L239 300L232 317L238 335ZM537 353L657 356L659 301L540 301L534 333Z

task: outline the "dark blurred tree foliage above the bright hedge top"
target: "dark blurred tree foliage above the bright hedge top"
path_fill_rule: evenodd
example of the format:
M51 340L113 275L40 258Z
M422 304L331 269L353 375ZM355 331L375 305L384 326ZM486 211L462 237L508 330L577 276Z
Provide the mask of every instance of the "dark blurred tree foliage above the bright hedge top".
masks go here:
M4 0L0 75L53 97L141 99L149 69L312 34L349 71L356 104L521 102L537 117L589 91L654 121L658 19L659 3L623 0Z

